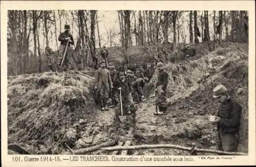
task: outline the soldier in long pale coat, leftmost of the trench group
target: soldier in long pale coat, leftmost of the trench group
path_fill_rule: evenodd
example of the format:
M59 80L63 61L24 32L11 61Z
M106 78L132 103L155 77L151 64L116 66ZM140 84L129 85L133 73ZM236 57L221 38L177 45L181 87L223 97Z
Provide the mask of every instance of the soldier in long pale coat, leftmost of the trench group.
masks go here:
M100 68L96 70L95 73L95 87L97 94L99 95L99 102L101 105L101 110L109 110L106 107L106 101L109 99L109 94L113 88L110 71L106 69L105 60L100 61Z

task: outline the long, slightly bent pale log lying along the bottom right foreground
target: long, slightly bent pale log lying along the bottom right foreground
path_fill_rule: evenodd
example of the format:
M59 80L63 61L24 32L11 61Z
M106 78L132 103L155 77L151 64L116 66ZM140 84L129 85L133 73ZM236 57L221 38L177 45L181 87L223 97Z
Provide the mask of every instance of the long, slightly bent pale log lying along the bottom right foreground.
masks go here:
M177 146L177 145L138 145L138 146L116 146L116 147L106 147L101 148L102 150L114 151L114 150L140 150L140 149L161 149L161 148L171 148L171 149L178 149L184 151L191 151L191 148ZM195 148L194 151L196 152L208 152L208 153L215 153L215 154L222 154L222 155L248 155L245 153L240 152L225 152L219 150L210 150L210 149L198 149Z

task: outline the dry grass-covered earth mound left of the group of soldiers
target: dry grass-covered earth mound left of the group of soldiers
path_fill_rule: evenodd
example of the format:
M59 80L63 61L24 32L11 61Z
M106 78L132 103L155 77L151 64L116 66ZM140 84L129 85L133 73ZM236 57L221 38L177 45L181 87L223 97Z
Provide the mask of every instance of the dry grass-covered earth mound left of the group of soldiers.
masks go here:
M80 72L93 74L91 70ZM94 120L92 82L75 71L9 77L8 135L59 153L60 144L75 142L70 127L84 115Z

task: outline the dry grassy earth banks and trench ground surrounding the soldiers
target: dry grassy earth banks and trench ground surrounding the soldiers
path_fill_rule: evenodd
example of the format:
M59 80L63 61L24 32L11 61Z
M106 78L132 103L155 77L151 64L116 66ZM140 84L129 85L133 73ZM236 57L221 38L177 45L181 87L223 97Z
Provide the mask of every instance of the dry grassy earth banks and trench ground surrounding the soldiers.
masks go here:
M214 149L216 127L209 124L207 114L214 114L218 104L212 89L224 84L231 96L243 106L241 145L248 144L248 44L226 43L207 54L200 50L193 60L167 63L169 73L168 113L155 116L154 99L138 105L135 117L125 125L117 121L118 107L101 112L92 96L93 80L75 71L42 73L8 78L8 143L18 142L35 154L68 154L72 149L98 145L109 139L131 140L137 144L177 144ZM200 51L202 51L200 53ZM120 48L110 50L111 60L121 64ZM149 62L143 46L130 51L136 63ZM140 56L138 56L140 55ZM137 57L138 56L138 57ZM94 70L81 71L94 75ZM152 95L157 73L146 91ZM132 132L132 134L131 134ZM143 136L143 140L133 137ZM112 154L95 151L92 154ZM187 155L187 152L157 149L133 151L134 155Z

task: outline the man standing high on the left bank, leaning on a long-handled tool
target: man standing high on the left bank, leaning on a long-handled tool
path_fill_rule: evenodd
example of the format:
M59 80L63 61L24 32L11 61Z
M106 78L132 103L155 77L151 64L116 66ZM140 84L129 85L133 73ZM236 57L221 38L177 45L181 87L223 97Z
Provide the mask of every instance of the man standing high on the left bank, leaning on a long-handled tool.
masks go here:
M72 35L69 33L70 26L65 25L64 28L65 28L65 32L60 33L59 38L58 38L58 40L60 41L60 46L59 46L59 56L60 56L60 58L59 58L59 63L58 64L59 64L59 66L61 65L62 58L63 58L63 55L65 53L67 43L69 42L67 52L66 52L66 55L65 55L65 59L64 59L64 62L63 62L64 70L69 70L69 69L73 68L72 64L70 62L70 58L73 54L71 44L74 44L74 39L73 39Z

